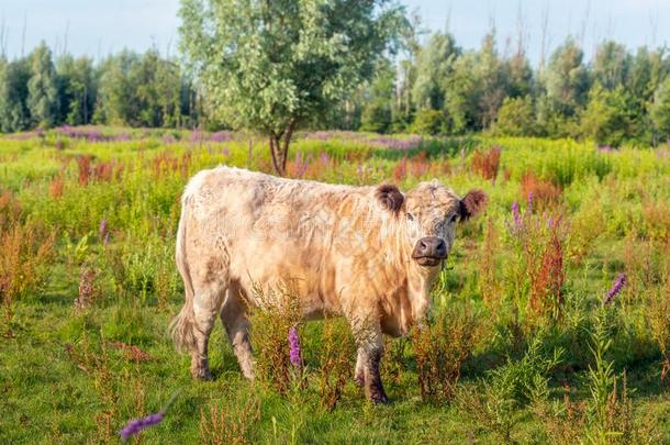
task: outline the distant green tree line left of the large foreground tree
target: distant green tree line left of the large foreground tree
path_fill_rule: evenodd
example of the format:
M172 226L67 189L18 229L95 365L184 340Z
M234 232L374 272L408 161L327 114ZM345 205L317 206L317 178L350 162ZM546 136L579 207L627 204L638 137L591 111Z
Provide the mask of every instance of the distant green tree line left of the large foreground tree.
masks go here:
M0 131L110 124L191 127L199 122L193 82L157 49L124 49L100 63L42 43L25 57L0 58Z

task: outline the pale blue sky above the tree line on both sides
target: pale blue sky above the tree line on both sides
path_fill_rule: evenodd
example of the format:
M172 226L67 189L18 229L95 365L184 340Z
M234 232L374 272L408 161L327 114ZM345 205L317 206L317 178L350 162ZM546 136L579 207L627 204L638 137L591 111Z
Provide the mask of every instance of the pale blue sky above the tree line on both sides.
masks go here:
M540 54L543 11L548 11L547 41L558 45L568 34L581 35L587 55L604 37L629 48L670 44L670 0L402 0L418 11L427 30L447 29L466 48L478 47L493 22L500 51L517 34L523 18L528 56ZM44 40L76 55L104 56L123 47L145 51L156 45L176 53L179 0L0 0L0 29L7 54L21 54ZM3 26L2 26L3 24Z

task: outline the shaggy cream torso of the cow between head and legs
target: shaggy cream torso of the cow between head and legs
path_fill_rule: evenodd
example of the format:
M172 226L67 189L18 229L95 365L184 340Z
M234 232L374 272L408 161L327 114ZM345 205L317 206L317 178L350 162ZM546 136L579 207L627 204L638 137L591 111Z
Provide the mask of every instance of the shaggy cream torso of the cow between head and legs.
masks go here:
M191 259L206 257L201 268L226 274L249 299L253 289L289 286L308 314L320 315L338 310L343 288L356 279L369 286L366 276L379 275L383 253L370 252L381 244L371 188L217 167L193 177L183 204ZM397 274L389 275L378 281L391 285Z

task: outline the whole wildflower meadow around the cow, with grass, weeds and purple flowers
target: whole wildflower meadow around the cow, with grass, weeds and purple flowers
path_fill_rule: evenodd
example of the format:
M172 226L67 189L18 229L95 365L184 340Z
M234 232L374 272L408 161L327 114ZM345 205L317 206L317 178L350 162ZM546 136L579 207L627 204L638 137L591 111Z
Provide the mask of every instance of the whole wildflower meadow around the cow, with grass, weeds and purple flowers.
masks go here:
M254 314L261 378L242 378L219 324L214 380L191 380L166 333L179 196L217 164L271 165L265 142L225 132L0 140L1 443L118 442L172 396L141 442L670 443L670 146L300 134L291 177L490 197L429 325L388 341L389 405L355 386L336 320L299 326L291 368L279 310Z

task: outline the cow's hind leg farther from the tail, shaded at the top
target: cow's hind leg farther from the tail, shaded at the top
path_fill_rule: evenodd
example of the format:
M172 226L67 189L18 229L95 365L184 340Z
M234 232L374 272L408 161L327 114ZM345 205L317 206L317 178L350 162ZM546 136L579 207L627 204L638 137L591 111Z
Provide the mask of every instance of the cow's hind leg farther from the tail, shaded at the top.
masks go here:
M236 283L232 283L228 288L227 298L221 309L221 321L228 334L242 374L247 379L254 380L254 357L249 342L250 325L247 318L247 304Z

